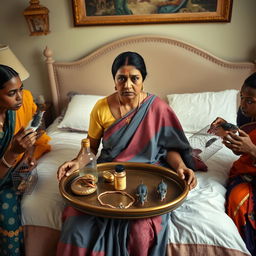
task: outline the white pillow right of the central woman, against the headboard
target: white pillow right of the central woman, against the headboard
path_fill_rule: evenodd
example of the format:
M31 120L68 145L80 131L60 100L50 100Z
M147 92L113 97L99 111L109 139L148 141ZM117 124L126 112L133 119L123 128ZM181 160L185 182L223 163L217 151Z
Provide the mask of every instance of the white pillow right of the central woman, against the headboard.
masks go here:
M195 133L217 117L236 124L238 90L167 95L185 132Z

